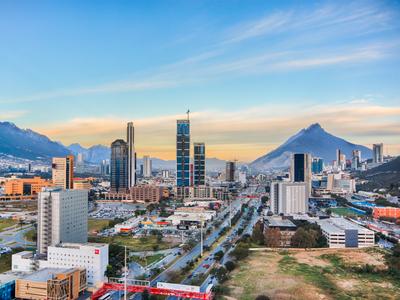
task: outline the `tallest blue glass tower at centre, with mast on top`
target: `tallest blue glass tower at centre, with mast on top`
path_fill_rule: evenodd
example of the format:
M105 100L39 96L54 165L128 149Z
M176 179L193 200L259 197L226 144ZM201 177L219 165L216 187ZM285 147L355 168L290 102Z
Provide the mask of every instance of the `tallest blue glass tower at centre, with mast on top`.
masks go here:
M176 185L190 186L190 121L176 123Z

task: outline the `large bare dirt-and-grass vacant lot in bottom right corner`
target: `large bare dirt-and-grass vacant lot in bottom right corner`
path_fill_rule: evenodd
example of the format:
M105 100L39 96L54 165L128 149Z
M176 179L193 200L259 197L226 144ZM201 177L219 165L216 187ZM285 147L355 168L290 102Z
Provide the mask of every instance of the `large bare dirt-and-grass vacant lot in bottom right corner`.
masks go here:
M224 284L226 299L400 299L400 282L383 262L375 249L255 252ZM375 271L360 271L366 264Z

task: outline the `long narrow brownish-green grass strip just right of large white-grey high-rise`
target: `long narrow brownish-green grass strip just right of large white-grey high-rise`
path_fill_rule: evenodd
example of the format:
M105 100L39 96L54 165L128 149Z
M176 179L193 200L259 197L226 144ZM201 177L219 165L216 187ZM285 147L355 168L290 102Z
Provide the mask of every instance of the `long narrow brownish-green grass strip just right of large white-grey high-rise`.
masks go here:
M127 246L131 251L155 251L165 250L174 247L176 244L159 241L156 236L147 236L143 238L132 238L132 236L109 236L109 237L89 237L89 242L117 244Z

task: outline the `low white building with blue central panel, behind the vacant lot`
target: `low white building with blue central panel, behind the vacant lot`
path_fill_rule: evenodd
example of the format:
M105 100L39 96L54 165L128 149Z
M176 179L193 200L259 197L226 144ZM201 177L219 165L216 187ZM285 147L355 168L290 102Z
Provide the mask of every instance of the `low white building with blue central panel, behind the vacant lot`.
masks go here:
M318 220L329 248L364 248L375 244L375 234L344 218Z

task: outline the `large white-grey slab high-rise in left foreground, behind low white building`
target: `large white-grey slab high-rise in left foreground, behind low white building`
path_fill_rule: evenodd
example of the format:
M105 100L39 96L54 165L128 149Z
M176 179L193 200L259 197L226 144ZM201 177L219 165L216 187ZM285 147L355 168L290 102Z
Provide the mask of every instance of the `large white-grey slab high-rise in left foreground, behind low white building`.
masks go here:
M48 188L38 197L38 251L61 242L86 243L88 193L85 190Z

